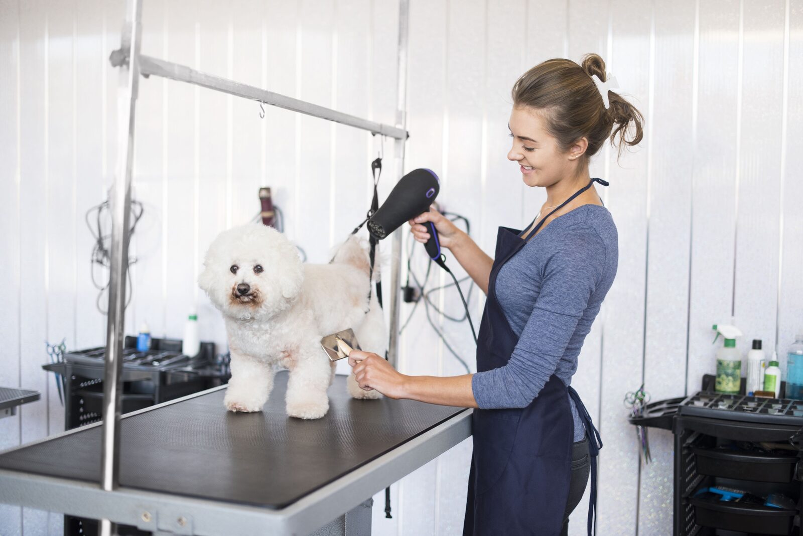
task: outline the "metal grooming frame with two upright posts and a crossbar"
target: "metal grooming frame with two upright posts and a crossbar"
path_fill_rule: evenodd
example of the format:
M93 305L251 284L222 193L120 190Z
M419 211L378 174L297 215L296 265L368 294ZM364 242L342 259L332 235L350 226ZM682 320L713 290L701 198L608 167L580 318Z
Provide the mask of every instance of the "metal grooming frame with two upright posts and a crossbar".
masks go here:
M137 88L139 75L161 76L168 79L193 83L215 91L222 91L246 99L252 99L308 116L347 124L367 130L372 134L393 137L395 142L395 163L397 177L404 173L404 149L408 134L406 125L406 81L407 81L407 34L409 0L399 2L399 40L398 40L398 94L396 124L394 126L375 123L357 116L349 116L316 104L292 99L272 91L249 86L233 80L208 75L177 63L140 55L141 49L141 11L142 0L128 0L126 22L122 32L120 50L112 52L110 61L120 67L118 94L118 150L117 165L112 189L112 247L110 251L111 268L109 274L108 322L106 331L106 355L104 376L103 408L103 448L101 456L101 488L113 491L118 485L120 447L120 378L122 373L122 351L125 319L125 278L128 266L128 215L131 209L131 175L134 149L134 120L136 116ZM388 356L393 365L397 363L398 320L401 266L402 231L393 236L393 266L390 275L390 322ZM114 532L111 522L101 523L101 534L110 536Z

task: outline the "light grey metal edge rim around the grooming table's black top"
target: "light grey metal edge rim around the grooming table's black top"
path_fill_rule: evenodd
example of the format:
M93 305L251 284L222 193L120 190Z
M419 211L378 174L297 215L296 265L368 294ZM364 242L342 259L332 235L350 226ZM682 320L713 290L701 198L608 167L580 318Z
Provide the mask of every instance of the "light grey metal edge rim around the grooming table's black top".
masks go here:
M467 410L283 510L145 489L104 491L91 482L8 469L0 469L0 504L105 517L141 530L157 530L182 517L192 520L192 533L199 536L309 534L470 436L471 410Z

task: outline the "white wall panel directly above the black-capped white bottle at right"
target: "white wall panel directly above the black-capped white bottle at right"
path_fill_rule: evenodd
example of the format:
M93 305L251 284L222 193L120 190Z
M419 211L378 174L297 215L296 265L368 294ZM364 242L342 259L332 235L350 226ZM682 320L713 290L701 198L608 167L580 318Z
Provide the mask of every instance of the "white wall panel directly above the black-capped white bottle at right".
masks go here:
M734 314L747 350L750 339L772 344L777 322L783 86L764 80L783 79L785 2L745 2L743 9ZM785 364L784 355L781 370Z

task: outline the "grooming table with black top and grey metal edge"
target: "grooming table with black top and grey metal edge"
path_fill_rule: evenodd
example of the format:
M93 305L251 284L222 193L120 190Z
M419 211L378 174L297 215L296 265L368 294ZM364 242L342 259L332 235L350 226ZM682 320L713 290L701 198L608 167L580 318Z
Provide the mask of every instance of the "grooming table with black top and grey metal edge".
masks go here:
M0 502L156 534L370 534L369 497L469 437L471 410L353 400L345 380L320 420L285 414L286 372L263 412L227 412L221 386L129 413L114 492L100 423L7 450Z

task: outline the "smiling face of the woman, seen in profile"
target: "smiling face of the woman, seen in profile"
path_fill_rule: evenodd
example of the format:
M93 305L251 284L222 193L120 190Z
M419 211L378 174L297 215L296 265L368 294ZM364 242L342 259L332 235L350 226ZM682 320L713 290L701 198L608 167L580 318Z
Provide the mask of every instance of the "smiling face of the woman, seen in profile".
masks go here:
M551 186L577 173L577 156L560 150L538 110L514 106L507 126L513 139L507 159L519 163L524 184Z

